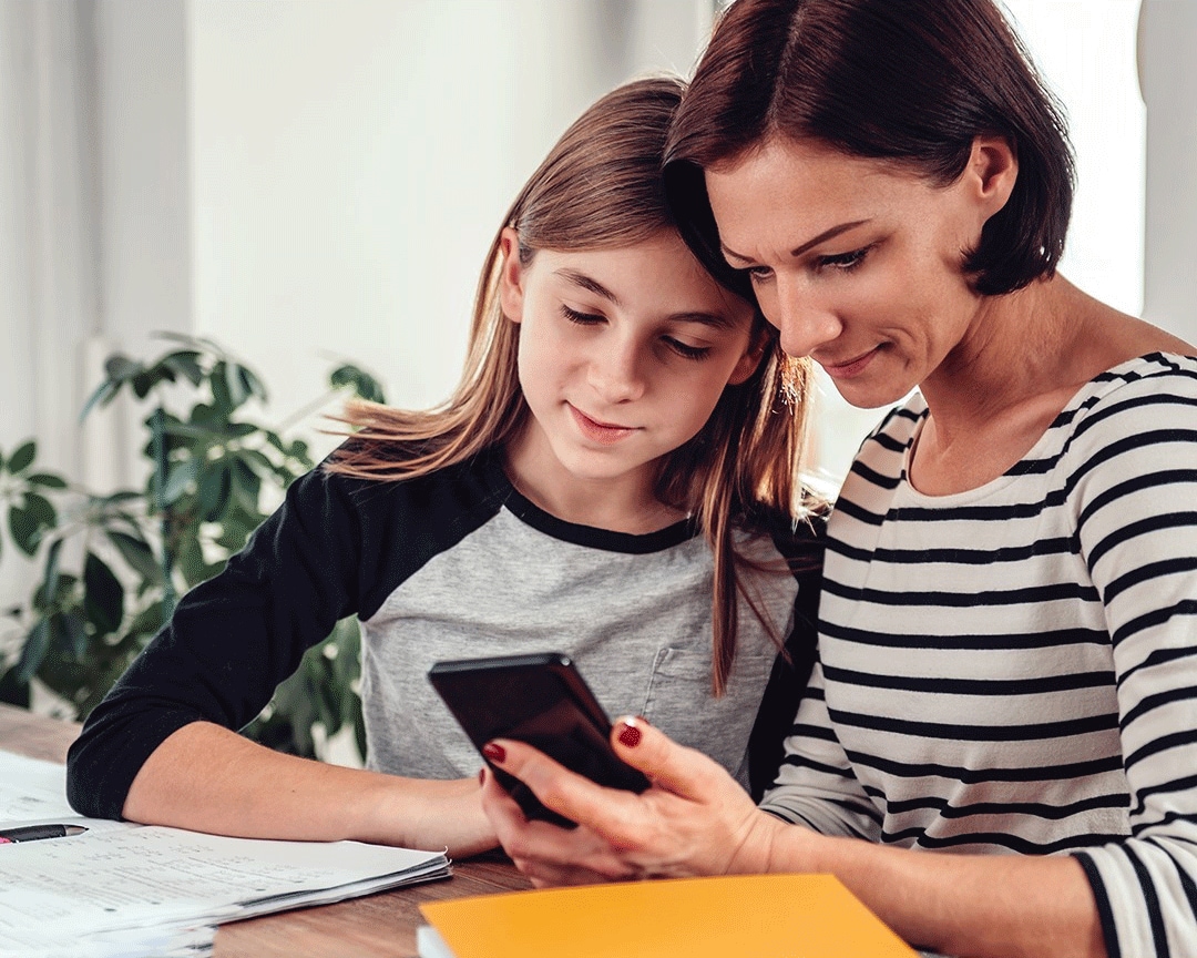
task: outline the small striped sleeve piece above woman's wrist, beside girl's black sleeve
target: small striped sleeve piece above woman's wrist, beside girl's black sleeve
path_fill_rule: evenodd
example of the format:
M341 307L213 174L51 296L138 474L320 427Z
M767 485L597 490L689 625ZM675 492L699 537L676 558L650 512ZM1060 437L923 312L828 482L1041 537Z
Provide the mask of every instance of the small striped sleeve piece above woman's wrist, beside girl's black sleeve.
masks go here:
M785 759L760 807L822 835L881 839L881 813L861 787L836 736L818 661L785 740Z

